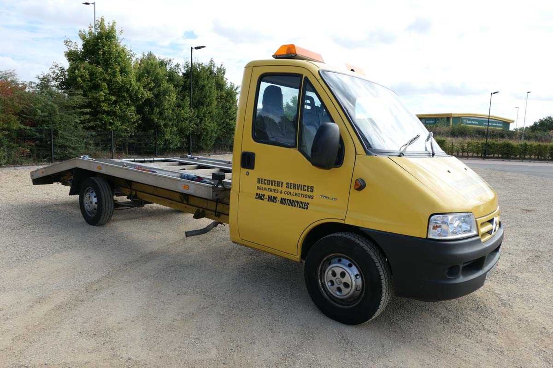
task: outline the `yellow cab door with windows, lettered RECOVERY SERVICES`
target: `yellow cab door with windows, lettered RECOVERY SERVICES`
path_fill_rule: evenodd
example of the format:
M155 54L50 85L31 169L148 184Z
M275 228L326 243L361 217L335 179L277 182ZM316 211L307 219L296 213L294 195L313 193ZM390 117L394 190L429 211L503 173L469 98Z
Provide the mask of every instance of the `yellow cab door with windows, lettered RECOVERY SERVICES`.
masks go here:
M305 68L255 66L249 91L239 172L239 237L273 253L298 255L306 228L346 217L353 142L332 100ZM316 129L326 121L338 124L343 141L341 157L330 170L309 161Z

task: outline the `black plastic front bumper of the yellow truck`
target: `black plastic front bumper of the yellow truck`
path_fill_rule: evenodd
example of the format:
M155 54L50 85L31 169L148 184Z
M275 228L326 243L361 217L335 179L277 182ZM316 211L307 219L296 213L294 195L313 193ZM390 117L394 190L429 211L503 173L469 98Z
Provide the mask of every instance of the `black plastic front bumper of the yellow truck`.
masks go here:
M419 300L457 298L478 290L497 264L503 226L487 242L480 237L436 241L361 228L384 251L395 294Z

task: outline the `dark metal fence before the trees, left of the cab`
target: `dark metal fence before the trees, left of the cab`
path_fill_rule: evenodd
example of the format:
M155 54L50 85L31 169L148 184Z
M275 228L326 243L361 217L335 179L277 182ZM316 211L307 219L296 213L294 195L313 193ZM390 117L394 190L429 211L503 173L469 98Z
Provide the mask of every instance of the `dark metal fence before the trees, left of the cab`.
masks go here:
M195 154L232 152L232 137L206 144L192 141ZM159 157L187 154L188 139L165 142L155 132L58 131L27 128L0 132L0 166L63 161L87 154L94 158Z

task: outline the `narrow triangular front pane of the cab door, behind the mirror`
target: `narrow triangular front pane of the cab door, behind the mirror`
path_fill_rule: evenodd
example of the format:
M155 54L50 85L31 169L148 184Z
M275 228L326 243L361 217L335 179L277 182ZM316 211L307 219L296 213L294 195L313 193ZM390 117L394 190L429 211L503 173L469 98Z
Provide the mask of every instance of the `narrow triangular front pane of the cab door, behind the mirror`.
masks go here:
M311 157L311 146L319 126L324 122L334 122L325 105L321 102L312 84L305 79L304 104L300 125L300 151Z

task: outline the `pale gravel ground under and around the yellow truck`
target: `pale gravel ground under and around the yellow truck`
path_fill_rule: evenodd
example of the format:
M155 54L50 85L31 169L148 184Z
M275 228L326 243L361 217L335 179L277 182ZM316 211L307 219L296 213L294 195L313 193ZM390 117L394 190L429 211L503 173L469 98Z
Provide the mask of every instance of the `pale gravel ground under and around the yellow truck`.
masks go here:
M492 278L351 327L313 305L301 264L225 227L184 239L207 221L158 205L88 226L31 169L0 169L0 366L553 366L553 179L476 169L506 224Z

